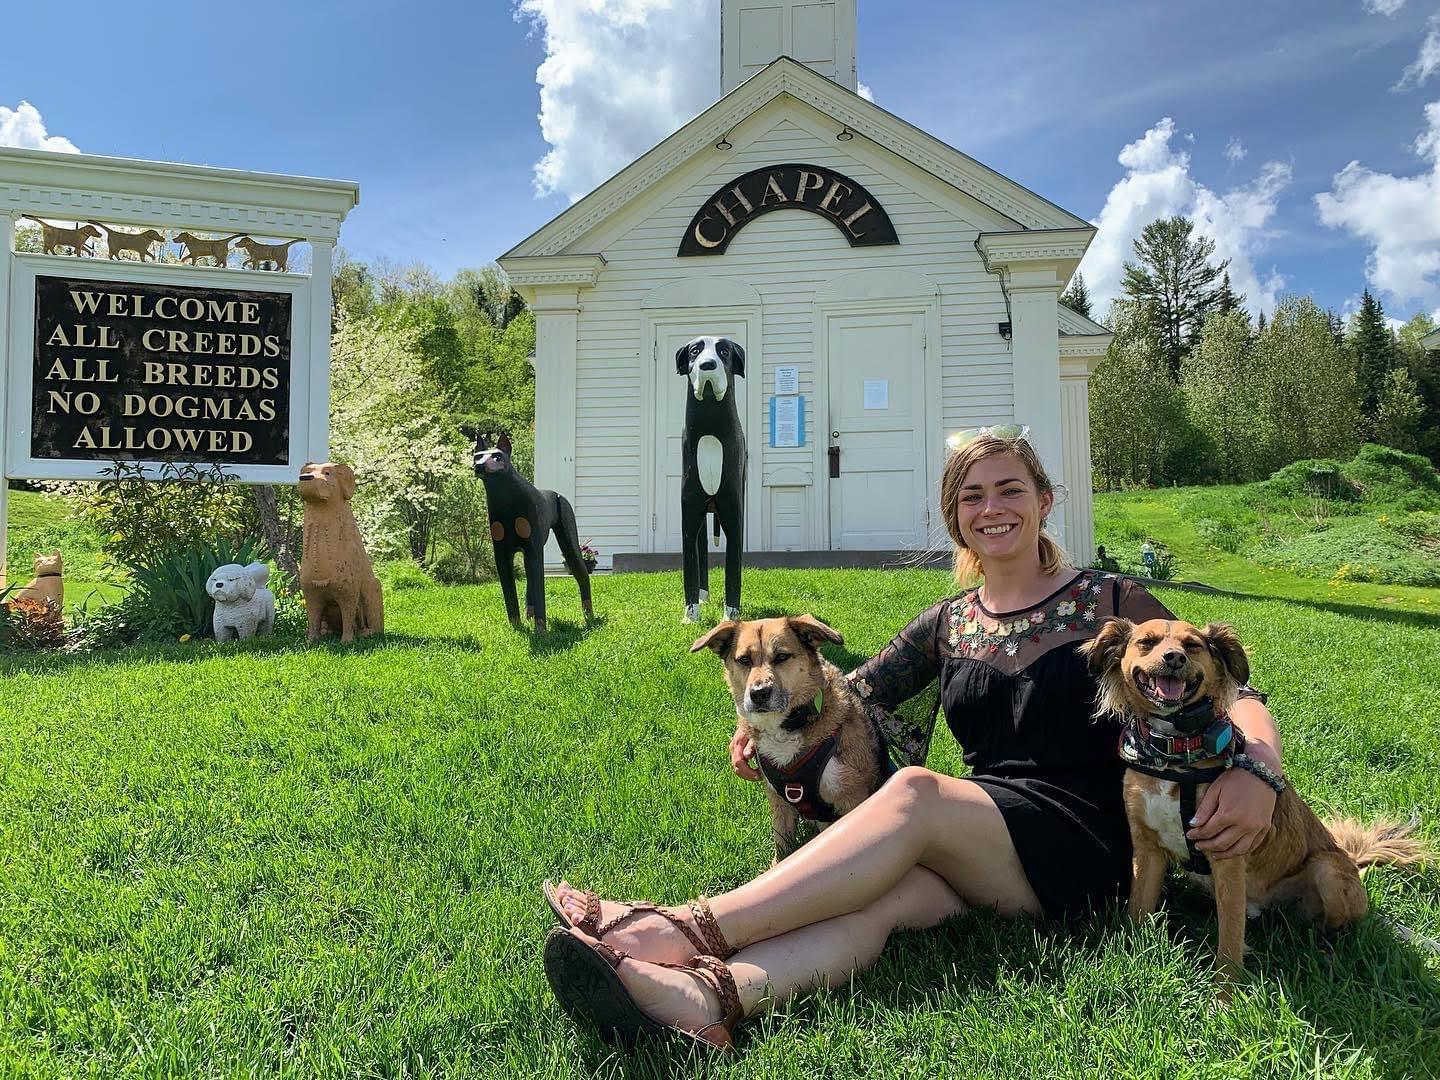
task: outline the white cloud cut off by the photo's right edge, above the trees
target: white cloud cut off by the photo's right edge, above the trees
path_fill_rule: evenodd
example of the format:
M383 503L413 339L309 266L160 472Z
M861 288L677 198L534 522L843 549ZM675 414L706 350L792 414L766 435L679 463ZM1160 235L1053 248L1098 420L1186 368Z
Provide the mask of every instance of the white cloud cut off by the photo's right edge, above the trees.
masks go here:
M1414 143L1430 170L1374 173L1351 161L1315 196L1320 222L1369 245L1365 278L1391 302L1440 301L1440 101Z

